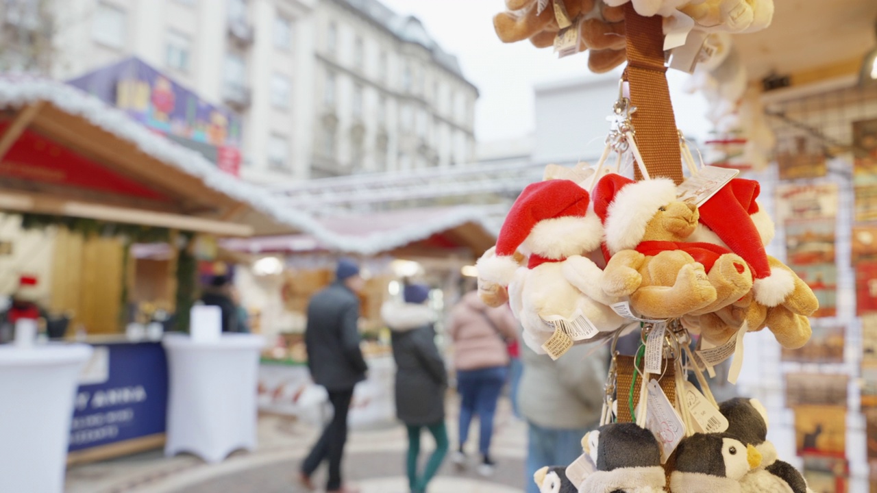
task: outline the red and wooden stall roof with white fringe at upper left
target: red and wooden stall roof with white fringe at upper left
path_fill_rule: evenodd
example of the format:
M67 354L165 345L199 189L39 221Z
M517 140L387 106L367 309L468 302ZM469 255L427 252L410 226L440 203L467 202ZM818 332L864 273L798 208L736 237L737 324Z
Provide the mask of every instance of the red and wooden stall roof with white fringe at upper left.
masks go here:
M0 210L220 236L306 232L310 216L61 82L0 77Z

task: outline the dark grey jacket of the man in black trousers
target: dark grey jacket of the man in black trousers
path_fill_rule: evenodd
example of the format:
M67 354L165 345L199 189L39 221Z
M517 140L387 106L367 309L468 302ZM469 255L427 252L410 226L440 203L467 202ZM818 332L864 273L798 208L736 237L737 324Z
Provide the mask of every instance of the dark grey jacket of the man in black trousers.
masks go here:
M341 282L310 298L304 344L317 385L350 390L365 380L368 367L360 350L359 318L360 300Z

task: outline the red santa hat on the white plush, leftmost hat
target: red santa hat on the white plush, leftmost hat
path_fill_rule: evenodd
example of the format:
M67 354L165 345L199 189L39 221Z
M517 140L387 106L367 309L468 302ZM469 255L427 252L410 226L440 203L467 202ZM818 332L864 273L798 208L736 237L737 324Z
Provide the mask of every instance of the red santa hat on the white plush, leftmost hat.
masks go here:
M496 239L496 254L475 264L478 276L508 286L521 253L562 261L600 247L602 225L588 214L588 190L570 180L548 180L527 185L505 218Z

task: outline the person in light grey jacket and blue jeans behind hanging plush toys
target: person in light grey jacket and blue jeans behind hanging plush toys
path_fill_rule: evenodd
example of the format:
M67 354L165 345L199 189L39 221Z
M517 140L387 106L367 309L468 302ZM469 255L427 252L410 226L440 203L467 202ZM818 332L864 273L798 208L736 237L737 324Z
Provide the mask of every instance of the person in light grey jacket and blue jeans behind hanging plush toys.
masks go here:
M533 474L581 455L581 438L600 425L609 352L600 343L574 346L558 361L521 345L524 374L517 400L527 420L526 493L539 493Z

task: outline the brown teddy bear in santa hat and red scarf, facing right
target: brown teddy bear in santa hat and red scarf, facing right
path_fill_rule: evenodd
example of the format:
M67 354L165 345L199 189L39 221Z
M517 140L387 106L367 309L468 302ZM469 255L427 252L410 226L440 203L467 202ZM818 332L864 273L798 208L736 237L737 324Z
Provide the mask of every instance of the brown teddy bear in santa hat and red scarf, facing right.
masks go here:
M633 182L606 175L594 190L594 210L611 255L602 289L629 296L647 318L678 318L717 311L752 289L746 262L724 247L687 243L698 211L680 202L667 179Z

